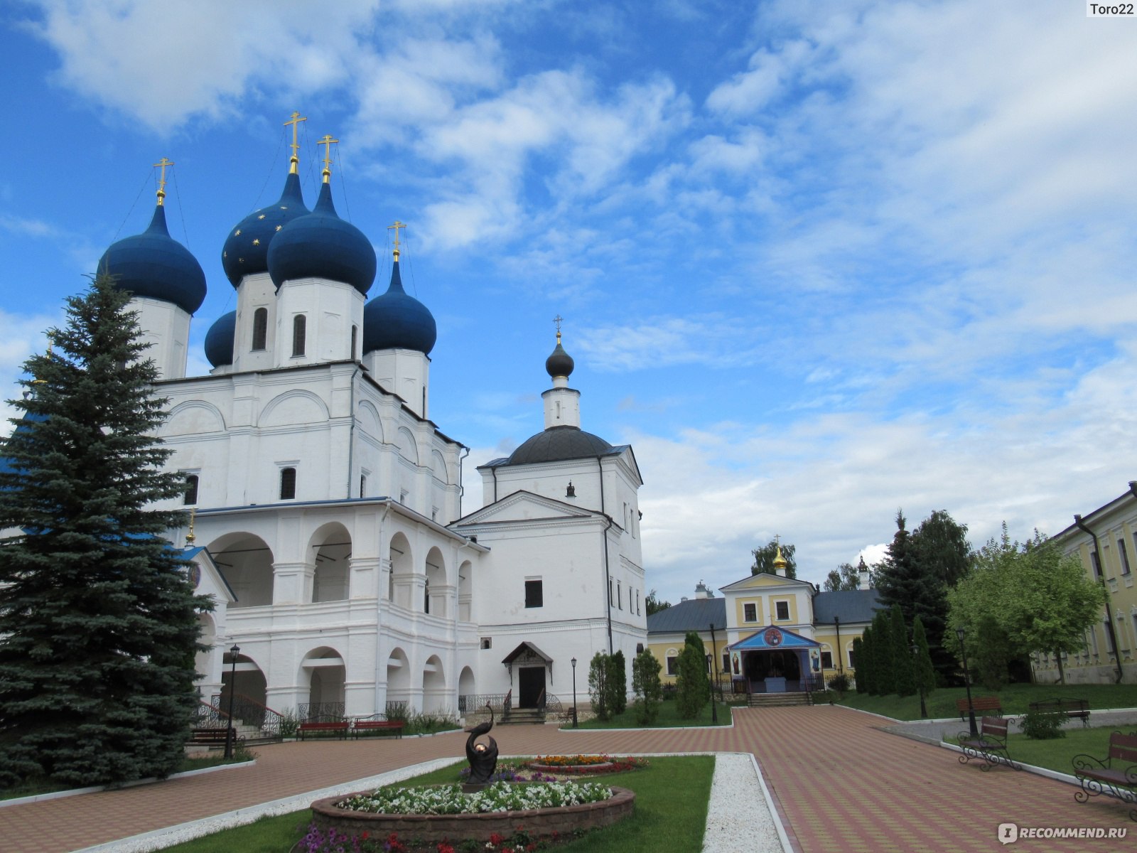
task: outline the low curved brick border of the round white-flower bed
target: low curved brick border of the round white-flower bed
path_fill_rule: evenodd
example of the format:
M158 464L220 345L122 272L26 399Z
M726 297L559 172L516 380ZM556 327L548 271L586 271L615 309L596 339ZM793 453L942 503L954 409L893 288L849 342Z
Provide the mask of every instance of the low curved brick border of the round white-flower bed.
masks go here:
M370 790L362 792L364 795ZM313 822L339 833L387 838L398 833L400 839L424 842L459 842L475 838L488 842L493 834L509 837L517 827L533 836L549 837L554 833L567 835L574 829L595 829L630 818L636 806L636 794L628 788L612 788L612 797L599 803L582 803L553 809L528 809L517 812L485 812L478 814L375 814L338 809L340 803L356 794L317 800L312 804Z

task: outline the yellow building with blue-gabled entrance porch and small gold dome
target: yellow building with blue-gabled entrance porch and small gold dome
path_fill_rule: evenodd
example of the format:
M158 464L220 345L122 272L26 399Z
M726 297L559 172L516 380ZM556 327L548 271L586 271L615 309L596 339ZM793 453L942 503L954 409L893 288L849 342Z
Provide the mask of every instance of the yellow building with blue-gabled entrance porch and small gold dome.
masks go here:
M778 574L748 575L720 591L717 598L699 581L694 598L648 616L647 647L662 665L664 684L674 682L687 632L696 631L724 689L824 689L838 673L853 676L853 640L880 606L868 571L855 590L820 591L808 581L787 578L779 566Z

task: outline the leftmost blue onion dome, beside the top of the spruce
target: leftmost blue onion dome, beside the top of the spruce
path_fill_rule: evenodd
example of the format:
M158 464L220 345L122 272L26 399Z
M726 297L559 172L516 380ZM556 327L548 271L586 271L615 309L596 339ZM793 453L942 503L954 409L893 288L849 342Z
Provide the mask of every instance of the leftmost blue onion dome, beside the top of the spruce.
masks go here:
M99 258L99 274L134 296L173 303L186 314L206 298L206 274L190 250L166 230L166 208L159 204L150 227L115 242Z

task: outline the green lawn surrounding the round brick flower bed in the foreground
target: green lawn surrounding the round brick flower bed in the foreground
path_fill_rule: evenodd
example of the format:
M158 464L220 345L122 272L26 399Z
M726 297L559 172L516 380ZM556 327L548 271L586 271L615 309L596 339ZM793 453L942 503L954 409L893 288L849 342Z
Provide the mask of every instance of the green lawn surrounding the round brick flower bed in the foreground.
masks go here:
M409 779L406 785L435 785L458 780L463 762L432 773ZM666 838L669 853L698 853L703 847L703 831L707 822L707 803L711 797L711 777L714 757L652 759L644 770L600 777L600 781L636 792L636 812L615 826L589 833L565 844L557 844L557 853L656 853L659 839ZM308 827L308 811L264 818L235 829L197 838L185 844L167 847L173 853L216 853L219 850L241 853L284 853L299 840Z

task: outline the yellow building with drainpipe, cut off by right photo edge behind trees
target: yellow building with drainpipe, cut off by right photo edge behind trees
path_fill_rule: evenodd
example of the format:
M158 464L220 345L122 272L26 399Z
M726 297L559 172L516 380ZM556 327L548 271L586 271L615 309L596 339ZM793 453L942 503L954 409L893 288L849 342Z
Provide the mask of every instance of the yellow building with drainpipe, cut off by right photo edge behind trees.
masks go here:
M1104 506L1074 515L1074 523L1054 541L1063 554L1081 561L1088 578L1109 590L1101 619L1086 632L1086 644L1079 652L1062 656L1067 684L1110 684L1119 679L1137 682L1137 480L1129 482L1129 491ZM1053 653L1031 655L1031 664L1037 681L1059 680Z

